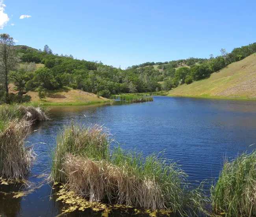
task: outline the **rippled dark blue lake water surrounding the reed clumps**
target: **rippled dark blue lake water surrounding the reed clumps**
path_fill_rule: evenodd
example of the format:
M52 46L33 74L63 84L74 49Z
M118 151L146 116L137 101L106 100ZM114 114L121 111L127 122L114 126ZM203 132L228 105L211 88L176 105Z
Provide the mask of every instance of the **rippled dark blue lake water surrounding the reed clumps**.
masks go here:
M154 96L153 102L136 104L54 107L50 118L51 121L34 124L27 138L28 145L35 144L38 155L29 178L31 185L39 185L50 174L56 134L63 124L71 121L104 124L122 147L136 148L145 155L165 150L165 157L177 161L188 174L191 187L205 179L211 182L217 178L224 158L233 159L244 151L250 152L256 143L255 101ZM43 184L21 198L1 194L0 215L60 214L62 204L50 197L51 187ZM6 193L27 188L0 185L0 191ZM205 188L207 191L209 185ZM67 216L97 215L87 211Z

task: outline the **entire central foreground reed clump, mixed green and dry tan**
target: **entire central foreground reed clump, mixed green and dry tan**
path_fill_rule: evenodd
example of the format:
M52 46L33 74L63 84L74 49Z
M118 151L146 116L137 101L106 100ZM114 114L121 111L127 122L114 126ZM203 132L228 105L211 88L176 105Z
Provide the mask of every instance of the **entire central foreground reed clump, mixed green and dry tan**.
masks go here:
M68 183L90 201L178 213L200 204L200 193L188 191L186 174L176 163L162 154L144 157L120 147L111 150L111 142L102 126L65 126L52 154L52 179Z

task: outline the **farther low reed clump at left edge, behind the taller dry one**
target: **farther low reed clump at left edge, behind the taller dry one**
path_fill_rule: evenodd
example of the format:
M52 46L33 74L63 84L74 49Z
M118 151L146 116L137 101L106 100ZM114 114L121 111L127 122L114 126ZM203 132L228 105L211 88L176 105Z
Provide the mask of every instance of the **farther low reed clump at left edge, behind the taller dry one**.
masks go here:
M46 121L47 109L40 107L23 106L22 104L11 104L0 106L0 117L2 119L24 119L26 121Z

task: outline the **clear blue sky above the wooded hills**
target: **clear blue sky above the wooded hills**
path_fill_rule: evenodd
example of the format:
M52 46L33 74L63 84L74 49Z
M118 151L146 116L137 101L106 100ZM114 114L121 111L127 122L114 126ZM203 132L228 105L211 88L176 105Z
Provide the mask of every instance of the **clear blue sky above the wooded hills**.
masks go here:
M0 33L11 35L17 45L39 49L47 44L54 53L123 69L147 61L217 56L221 48L230 52L256 42L255 0L0 0L0 4ZM31 17L20 19L21 15Z

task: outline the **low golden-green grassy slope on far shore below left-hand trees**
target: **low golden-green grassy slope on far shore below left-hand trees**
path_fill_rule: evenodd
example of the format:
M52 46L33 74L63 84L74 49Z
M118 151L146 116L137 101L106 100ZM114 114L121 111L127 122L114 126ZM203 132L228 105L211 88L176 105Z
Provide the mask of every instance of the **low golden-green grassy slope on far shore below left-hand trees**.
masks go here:
M17 93L14 91L14 85L10 85L10 93ZM46 91L46 98L40 100L37 92L29 91L27 95L31 96L32 102L40 102L45 105L84 105L103 103L109 101L107 98L98 98L93 93L84 92L81 90L74 90L69 87L63 87L54 91Z

